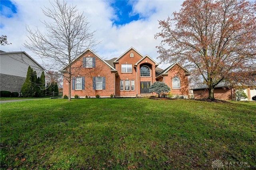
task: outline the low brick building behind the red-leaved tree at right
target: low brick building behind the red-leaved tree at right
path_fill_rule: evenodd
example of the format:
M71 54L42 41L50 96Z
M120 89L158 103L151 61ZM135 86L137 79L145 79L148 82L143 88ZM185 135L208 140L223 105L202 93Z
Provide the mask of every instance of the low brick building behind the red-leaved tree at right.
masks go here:
M244 93L247 95L247 99L242 100L252 100L252 97L256 95L256 88L243 88ZM214 88L214 98L219 100L236 100L235 99L235 88L229 88L225 83L219 83ZM195 87L193 89L195 99L208 98L208 88L206 85L201 85L200 87Z

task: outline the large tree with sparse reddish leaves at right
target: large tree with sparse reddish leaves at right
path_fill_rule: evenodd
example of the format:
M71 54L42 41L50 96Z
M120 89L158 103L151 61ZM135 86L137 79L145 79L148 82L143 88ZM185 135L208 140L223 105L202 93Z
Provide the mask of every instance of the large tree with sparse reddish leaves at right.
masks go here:
M178 62L208 86L250 85L256 76L256 2L186 0L173 18L159 21L158 58Z

